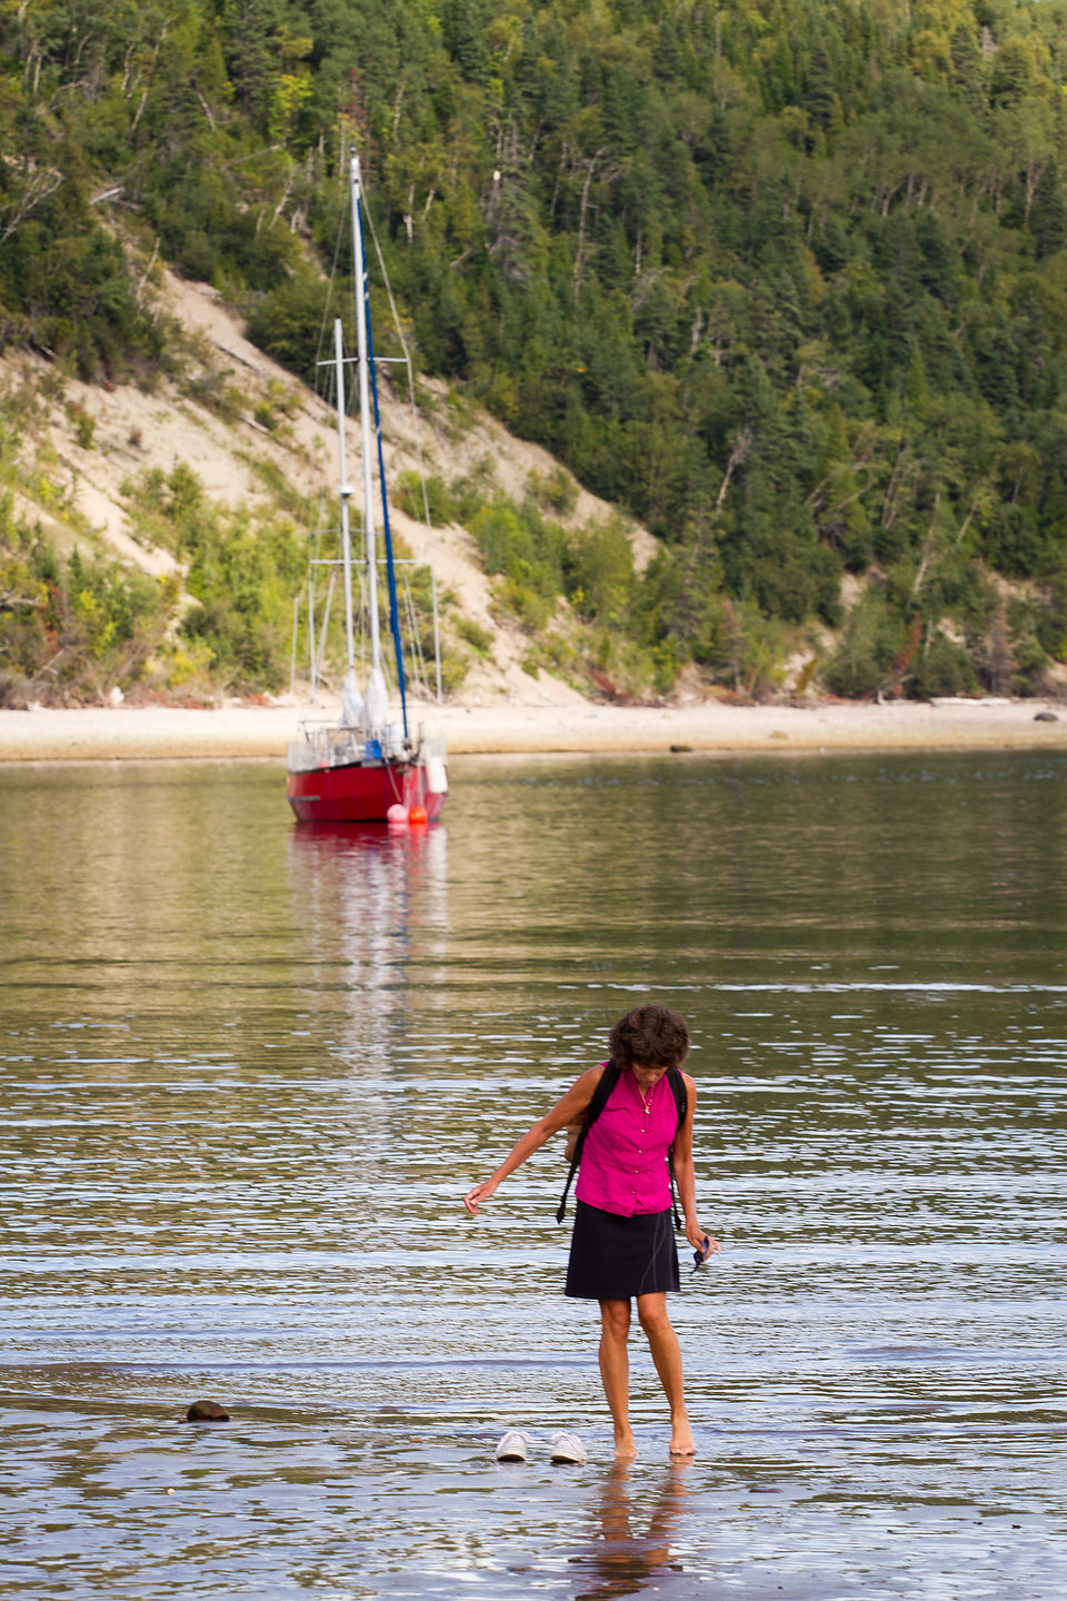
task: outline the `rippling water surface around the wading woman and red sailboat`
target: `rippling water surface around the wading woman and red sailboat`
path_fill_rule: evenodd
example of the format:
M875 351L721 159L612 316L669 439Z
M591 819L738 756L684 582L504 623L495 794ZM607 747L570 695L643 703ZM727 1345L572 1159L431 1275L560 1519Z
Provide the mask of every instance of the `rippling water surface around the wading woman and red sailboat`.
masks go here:
M1062 1596L1065 780L467 759L395 839L0 772L0 1593ZM649 993L723 1257L621 1475L560 1153L459 1196Z

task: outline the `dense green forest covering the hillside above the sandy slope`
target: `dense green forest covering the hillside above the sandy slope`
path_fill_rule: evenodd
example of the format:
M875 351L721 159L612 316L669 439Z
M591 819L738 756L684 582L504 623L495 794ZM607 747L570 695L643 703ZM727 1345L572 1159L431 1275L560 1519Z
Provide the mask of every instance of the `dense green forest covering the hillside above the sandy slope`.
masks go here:
M150 381L158 251L307 371L354 139L421 367L665 541L482 506L520 613L661 688L1056 682L1059 0L3 0L0 45L6 347Z

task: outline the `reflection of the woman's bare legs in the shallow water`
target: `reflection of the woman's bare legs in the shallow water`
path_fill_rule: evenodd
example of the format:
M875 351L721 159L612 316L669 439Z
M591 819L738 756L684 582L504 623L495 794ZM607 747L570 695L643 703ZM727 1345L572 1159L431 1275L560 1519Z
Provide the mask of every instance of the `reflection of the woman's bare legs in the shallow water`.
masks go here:
M616 1462L603 1483L595 1515L600 1539L589 1556L576 1563L576 1579L587 1590L576 1590L574 1601L608 1601L609 1596L638 1595L670 1561L670 1540L686 1495L685 1463L670 1463L659 1489L651 1495L637 1494L630 1483L629 1462ZM645 1523L645 1532L635 1526Z

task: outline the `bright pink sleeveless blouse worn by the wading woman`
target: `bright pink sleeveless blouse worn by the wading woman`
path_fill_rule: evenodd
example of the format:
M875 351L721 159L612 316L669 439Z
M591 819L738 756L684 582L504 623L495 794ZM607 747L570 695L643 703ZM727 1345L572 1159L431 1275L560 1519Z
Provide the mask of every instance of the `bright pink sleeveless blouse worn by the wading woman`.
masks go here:
M641 1095L629 1068L585 1137L574 1196L619 1217L665 1212L670 1206L667 1148L678 1129L678 1105L667 1074Z

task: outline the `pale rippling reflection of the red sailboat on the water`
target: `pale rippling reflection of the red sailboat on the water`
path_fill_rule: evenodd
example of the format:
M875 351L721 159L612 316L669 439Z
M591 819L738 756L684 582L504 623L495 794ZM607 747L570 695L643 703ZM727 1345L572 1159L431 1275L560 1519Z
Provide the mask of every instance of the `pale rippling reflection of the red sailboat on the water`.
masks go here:
M448 836L301 825L290 841L310 1026L352 1068L387 1071L403 1047L411 985L430 981L443 959Z

